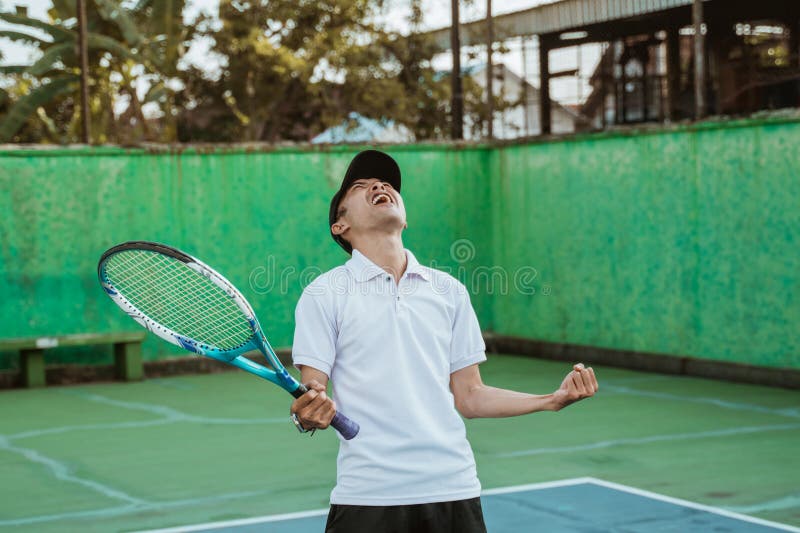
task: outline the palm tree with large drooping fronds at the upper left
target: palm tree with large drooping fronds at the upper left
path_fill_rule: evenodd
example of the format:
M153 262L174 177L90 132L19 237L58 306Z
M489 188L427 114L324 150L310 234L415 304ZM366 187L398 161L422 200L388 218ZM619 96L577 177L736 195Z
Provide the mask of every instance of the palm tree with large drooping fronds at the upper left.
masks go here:
M124 138L123 132L128 128L109 129L118 121L136 122L141 126L142 137L150 137L152 132L141 111L149 102L161 106L167 123L174 120L168 82L177 73L177 60L186 37L181 24L184 4L185 0L140 0L125 8L119 0L94 0L96 9L88 10L87 42L92 59L90 78L96 89L90 109L96 110L92 118L101 126L96 140L119 142L120 134ZM67 107L77 108L74 102L78 101L80 70L75 14L75 0L55 0L49 12L50 22L28 17L24 12L0 12L0 20L22 26L19 31L0 31L0 37L36 46L42 52L32 65L0 66L0 75L11 76L17 82L11 94L0 92L0 110L7 106L6 113L0 116L0 142L12 140L37 115L51 135L57 136L59 127L44 108L65 99L72 103ZM143 99L136 91L140 84L149 86ZM120 98L129 100L128 110L115 117L114 104ZM78 111L72 111L69 124L60 124L66 137L55 140L74 139L70 133L77 131L78 118ZM172 140L174 127L162 128L160 137L159 140Z

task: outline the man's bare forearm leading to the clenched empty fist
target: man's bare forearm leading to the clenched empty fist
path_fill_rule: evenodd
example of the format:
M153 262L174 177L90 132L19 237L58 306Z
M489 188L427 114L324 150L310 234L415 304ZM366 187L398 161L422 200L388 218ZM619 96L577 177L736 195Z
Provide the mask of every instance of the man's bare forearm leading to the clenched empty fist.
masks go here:
M557 410L553 394L527 394L483 384L471 387L456 407L465 418L502 418Z

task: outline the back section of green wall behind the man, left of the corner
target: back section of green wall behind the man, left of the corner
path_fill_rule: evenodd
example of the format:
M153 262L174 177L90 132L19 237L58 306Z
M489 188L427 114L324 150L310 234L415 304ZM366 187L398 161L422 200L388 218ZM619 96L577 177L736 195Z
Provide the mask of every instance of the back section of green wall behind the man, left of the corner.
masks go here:
M0 151L0 338L138 328L100 289L96 265L116 243L153 240L217 268L245 293L272 344L288 346L302 287L349 257L327 217L357 151ZM488 151L390 151L403 169L406 245L418 259L457 272L469 265L450 258L450 244L465 236L488 259L489 225L462 233L481 203L476 192L488 196ZM489 316L487 299L475 304ZM154 337L144 348L147 359L181 353ZM110 354L54 350L47 359ZM16 354L0 357L0 368L16 364Z

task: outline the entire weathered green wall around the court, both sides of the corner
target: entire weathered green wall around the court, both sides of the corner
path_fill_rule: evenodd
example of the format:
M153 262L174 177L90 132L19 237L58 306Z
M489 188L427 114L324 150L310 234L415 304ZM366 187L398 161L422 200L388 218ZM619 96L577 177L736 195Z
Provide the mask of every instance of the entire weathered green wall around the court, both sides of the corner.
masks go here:
M800 368L798 147L789 117L388 151L406 245L467 283L485 330ZM135 329L95 268L145 239L218 268L288 345L302 287L347 259L327 210L358 150L0 149L0 338Z

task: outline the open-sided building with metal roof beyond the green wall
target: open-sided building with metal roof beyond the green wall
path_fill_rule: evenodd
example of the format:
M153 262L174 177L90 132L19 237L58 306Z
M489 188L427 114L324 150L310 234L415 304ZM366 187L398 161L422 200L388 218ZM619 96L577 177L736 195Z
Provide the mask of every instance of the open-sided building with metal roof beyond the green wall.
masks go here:
M696 118L703 109L696 90L705 100L701 117L800 107L800 1L703 1L701 56L693 3L560 0L494 17L494 36L538 43L542 133L557 131L551 81L574 75L553 72L551 52L583 45L602 49L579 103L579 114L596 129ZM485 45L485 26L485 20L462 24L462 45ZM427 33L439 49L449 49L449 28ZM697 88L696 62L702 67Z

